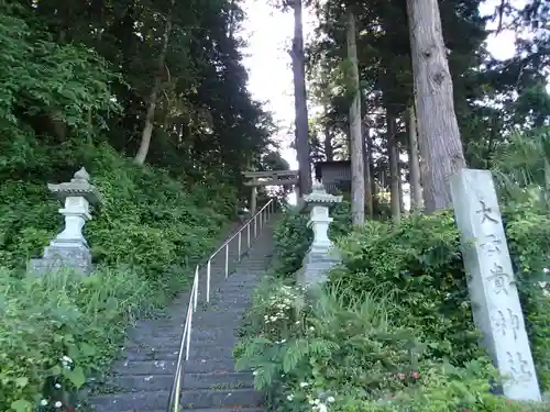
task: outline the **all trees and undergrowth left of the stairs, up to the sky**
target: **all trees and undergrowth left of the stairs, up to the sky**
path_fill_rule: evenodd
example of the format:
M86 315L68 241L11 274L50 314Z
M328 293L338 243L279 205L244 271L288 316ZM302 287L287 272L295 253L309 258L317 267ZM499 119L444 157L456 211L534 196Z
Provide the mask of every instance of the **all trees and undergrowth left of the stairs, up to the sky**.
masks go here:
M241 21L220 1L1 2L1 411L74 411L231 224L243 169L286 167L246 91ZM85 227L97 271L30 277L63 227L46 183L82 166L103 200Z

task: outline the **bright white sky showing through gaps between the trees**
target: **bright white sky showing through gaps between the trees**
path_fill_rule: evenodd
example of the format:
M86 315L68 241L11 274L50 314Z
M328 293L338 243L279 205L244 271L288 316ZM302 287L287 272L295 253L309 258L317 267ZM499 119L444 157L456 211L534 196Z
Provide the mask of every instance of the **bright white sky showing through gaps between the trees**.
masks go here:
M481 11L491 14L499 0L486 1ZM524 1L521 1L524 2ZM265 102L265 109L274 114L280 126L282 155L292 169L298 168L296 153L288 147L294 140L289 127L294 124L293 71L288 48L294 32L294 15L283 13L270 5L266 0L245 0L246 21L243 37L249 43L244 51L244 65L249 71L249 90L254 99ZM305 15L304 31L306 43L311 38L315 19ZM501 59L514 54L514 33L502 32L497 37L487 40L490 52Z

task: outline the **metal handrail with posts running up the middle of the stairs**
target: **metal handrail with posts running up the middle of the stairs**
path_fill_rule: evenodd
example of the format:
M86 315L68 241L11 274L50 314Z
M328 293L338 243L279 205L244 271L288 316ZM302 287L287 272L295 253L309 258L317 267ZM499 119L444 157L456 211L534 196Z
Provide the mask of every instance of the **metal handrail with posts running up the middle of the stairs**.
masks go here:
M207 269L207 292L206 300L210 302L210 278L211 278L211 264L212 259L221 252L226 252L226 279L229 277L229 244L235 237L238 237L239 246L238 246L238 261L241 261L241 257L243 256L243 247L242 247L242 237L243 232L246 230L246 249L250 249L251 246L251 236L252 230L251 226L254 224L254 238L257 237L258 231L257 225L260 224L260 230L265 225L265 223L270 220L271 215L275 213L275 201L270 199L267 203L264 204L262 209L260 209L249 221L242 225L242 227L234 233L231 237L229 237L213 254L210 255L206 263ZM204 266L204 265L202 265ZM185 350L185 360L189 360L189 348L191 342L191 330L193 330L193 313L197 311L198 296L199 296L199 269L200 265L197 265L195 268L195 278L193 280L193 287L189 294L189 303L187 305L187 314L185 319L184 333L182 334L182 342L179 344L179 355L177 358L176 366L176 375L174 376L174 382L172 383L170 394L168 398L168 412L178 412L179 411L179 399L182 396L182 380L184 377L184 350Z

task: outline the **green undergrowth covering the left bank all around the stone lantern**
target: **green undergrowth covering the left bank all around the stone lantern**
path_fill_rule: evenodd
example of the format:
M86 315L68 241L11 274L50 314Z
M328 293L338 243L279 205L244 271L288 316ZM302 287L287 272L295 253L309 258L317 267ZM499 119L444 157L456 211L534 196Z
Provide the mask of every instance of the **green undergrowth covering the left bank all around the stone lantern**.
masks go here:
M231 188L212 183L222 194L207 202L200 185L136 167L108 145L26 144L36 148L26 169L0 165L0 410L18 412L42 400L52 410L75 405L76 390L107 370L130 322L186 286L189 265L210 252L235 203ZM46 182L66 181L82 165L103 198L85 227L99 271L21 276L63 227Z

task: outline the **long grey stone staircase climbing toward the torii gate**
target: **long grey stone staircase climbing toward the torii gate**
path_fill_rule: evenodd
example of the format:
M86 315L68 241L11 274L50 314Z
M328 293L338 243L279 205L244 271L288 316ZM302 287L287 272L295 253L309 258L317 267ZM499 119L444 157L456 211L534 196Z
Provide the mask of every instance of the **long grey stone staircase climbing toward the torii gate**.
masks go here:
M274 218L258 237L251 236L251 249L237 261L238 249L230 244L230 268L224 279L226 253L211 263L210 303L206 303L206 270L200 271L197 311L193 316L189 360L184 363L180 410L189 412L263 411L264 393L253 388L250 371L234 370L233 347L242 316L251 302L261 274L273 249ZM243 233L246 245L246 233ZM243 247L243 250L245 248ZM168 412L189 293L184 293L166 319L139 322L112 368L101 394L89 398L97 412Z

